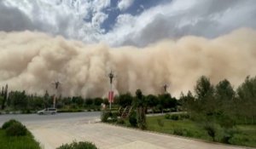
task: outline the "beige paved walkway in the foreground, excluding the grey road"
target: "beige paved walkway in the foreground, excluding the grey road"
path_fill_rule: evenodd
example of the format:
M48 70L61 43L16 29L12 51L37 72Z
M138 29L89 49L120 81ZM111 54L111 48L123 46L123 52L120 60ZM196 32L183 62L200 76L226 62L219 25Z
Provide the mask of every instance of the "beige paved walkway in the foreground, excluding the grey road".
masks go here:
M82 119L31 123L27 127L44 149L55 149L73 140L87 140L100 149L238 149L200 140L189 140L172 135L159 135L136 129L126 129L104 123L88 123Z

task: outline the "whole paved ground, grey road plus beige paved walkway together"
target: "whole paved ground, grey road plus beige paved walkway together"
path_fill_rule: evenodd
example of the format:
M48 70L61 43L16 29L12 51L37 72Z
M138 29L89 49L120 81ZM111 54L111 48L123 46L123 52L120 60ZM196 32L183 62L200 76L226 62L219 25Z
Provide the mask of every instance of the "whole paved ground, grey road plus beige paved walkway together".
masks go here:
M0 124L10 118L25 123L44 149L55 149L73 140L86 140L100 149L238 149L174 135L162 135L95 123L100 112L58 113L56 115L0 115Z

